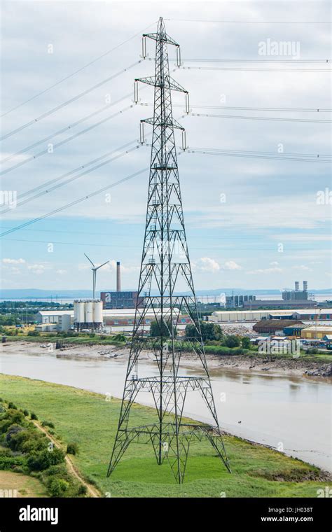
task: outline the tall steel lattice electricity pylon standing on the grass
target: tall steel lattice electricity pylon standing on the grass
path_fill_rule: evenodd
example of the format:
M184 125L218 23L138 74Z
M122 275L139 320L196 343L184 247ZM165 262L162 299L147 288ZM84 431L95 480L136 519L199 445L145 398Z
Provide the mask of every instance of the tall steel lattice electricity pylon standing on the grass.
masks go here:
M158 22L157 33L143 37L143 50L146 37L155 41L155 76L136 80L155 87L153 118L141 120L141 123L153 126L151 169L132 344L118 431L107 475L116 468L129 444L151 443L157 463L161 465L167 458L174 477L181 483L191 442L209 440L229 471L230 466L223 446L205 360L184 228L174 141L174 128L184 128L172 117L171 90L186 94L187 91L170 77L167 52L168 44L175 45L179 57L179 45L167 35L162 18ZM186 293L190 295L177 295L180 278L186 281ZM151 290L158 295L151 295ZM142 300L144 303L141 306ZM190 316L194 325L195 334L192 337L177 337L177 325L181 323L181 314L184 312ZM147 313L155 316L158 336L151 337L144 332ZM200 358L203 377L179 375L181 353L186 349ZM157 367L151 365L152 374L148 377L139 376L139 356L142 350L153 353L157 364ZM189 391L200 394L212 418L211 425L182 423L184 402ZM130 415L131 407L141 392L152 395L156 419L150 425L134 426Z

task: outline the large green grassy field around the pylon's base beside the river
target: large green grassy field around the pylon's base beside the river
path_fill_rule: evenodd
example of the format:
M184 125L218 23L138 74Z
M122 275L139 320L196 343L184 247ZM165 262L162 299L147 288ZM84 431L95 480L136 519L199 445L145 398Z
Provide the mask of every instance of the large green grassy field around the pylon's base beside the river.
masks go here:
M226 436L233 474L227 472L212 447L193 444L186 478L179 486L168 463L158 466L149 445L132 444L110 478L106 469L118 423L120 400L44 381L0 374L1 397L55 424L55 437L76 442L74 463L105 496L155 497L316 497L331 483L318 468L297 459ZM135 424L154 421L153 410L134 404Z

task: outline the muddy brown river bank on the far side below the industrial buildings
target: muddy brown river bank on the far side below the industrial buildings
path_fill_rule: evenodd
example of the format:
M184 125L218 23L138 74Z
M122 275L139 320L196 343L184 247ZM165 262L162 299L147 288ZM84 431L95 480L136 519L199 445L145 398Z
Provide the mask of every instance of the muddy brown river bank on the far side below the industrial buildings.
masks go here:
M121 358L127 360L129 349L123 346L105 346L105 345L71 345L63 346L61 349L55 349L55 343L38 343L38 342L8 342L1 344L1 353L25 353L25 354L43 354L56 353L58 357L78 358L85 360L109 360L112 358ZM300 356L299 358L284 358L273 356L269 360L253 351L250 356L247 355L212 355L207 354L207 364L209 370L218 370L225 368L228 370L248 371L253 374L275 374L289 375L293 377L322 377L332 381L332 361L331 363L322 363L319 360L312 360L312 357ZM151 361L154 356L151 352L141 351L140 360ZM332 356L331 356L332 358ZM193 353L183 353L181 356L182 363L186 367L200 369L200 359Z

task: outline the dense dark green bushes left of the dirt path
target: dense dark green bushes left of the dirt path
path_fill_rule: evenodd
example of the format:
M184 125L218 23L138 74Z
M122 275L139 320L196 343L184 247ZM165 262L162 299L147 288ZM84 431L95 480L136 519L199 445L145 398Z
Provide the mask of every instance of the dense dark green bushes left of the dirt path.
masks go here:
M0 470L36 477L50 496L78 496L80 482L69 475L64 452L11 405L2 402L0 413Z

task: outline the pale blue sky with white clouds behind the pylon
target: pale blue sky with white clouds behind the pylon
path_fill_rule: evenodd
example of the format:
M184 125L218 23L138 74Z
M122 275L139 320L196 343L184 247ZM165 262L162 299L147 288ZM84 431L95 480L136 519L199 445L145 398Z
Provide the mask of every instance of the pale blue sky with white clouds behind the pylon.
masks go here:
M326 69L326 64L299 62L331 57L328 2L3 1L1 137L20 130L0 144L0 212L6 211L1 216L1 233L146 170L1 237L2 288L90 288L90 265L84 253L96 264L110 260L98 272L97 289L115 288L117 260L123 289L137 287L150 160L150 148L137 140L139 121L153 113L153 90L141 85L139 104L134 105L133 87L134 78L153 74L154 43L147 42L148 57L143 60L140 36L155 31L160 16L167 33L181 45L183 66L205 67L177 68L175 50L170 49L171 75L189 91L193 113L331 118L328 112L293 111L331 109L330 73L318 71ZM273 42L277 55L271 55ZM286 55L279 45L282 42L291 43ZM215 59L288 62L268 64L278 69L274 72L259 72L248 69L267 68L266 64L212 62ZM245 70L220 70L221 66ZM95 90L76 98L99 83ZM61 107L69 99L73 102ZM186 127L189 150L330 155L329 123L185 116L184 94L174 92L172 102L174 118ZM43 118L57 106L60 109ZM86 118L89 115L93 116ZM75 125L78 120L81 123ZM101 120L102 124L66 142ZM148 134L148 126L145 130ZM296 280L307 280L312 289L331 287L330 165L184 153L180 134L176 133L176 139L188 247L198 290L283 289L293 287ZM133 149L123 154L128 143ZM88 168L90 161L110 152L116 159L109 164L45 193L52 186L45 185L48 181ZM24 164L6 172L20 162ZM78 170L70 177L76 175ZM38 187L34 194L25 195ZM18 205L37 192L44 193Z

